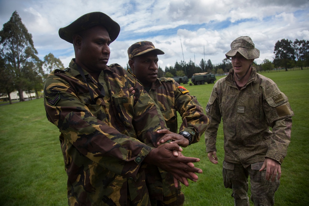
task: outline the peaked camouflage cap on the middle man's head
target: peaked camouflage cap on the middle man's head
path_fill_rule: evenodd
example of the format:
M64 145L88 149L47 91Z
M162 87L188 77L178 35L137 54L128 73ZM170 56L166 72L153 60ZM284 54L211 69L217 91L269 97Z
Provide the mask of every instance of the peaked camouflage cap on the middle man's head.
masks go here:
M132 59L133 57L140 56L142 54L145 54L147 52L155 52L155 54L164 54L163 51L160 49L155 48L154 44L150 41L140 41L136 42L135 44L132 44L128 48L128 56L129 59Z

